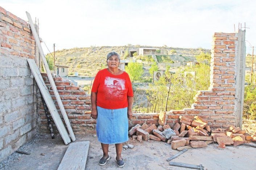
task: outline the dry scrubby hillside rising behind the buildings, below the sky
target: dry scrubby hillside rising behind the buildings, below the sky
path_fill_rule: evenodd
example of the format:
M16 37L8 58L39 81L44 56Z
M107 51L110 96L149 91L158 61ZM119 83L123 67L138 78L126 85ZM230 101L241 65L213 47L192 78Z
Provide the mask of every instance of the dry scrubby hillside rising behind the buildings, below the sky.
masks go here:
M69 66L69 74L78 72L79 75L95 76L99 69L106 67L106 56L108 52L116 51L120 54L121 51L127 49L135 49L139 47L161 48L168 50L176 50L177 54L170 58L177 62L186 63L195 59L195 55L201 52L210 52L207 49L193 48L172 48L172 47L153 47L153 46L102 46L102 47L85 47L71 48L55 51L56 64ZM49 54L48 54L49 55ZM182 55L182 56L180 56ZM121 56L122 58L122 56Z

